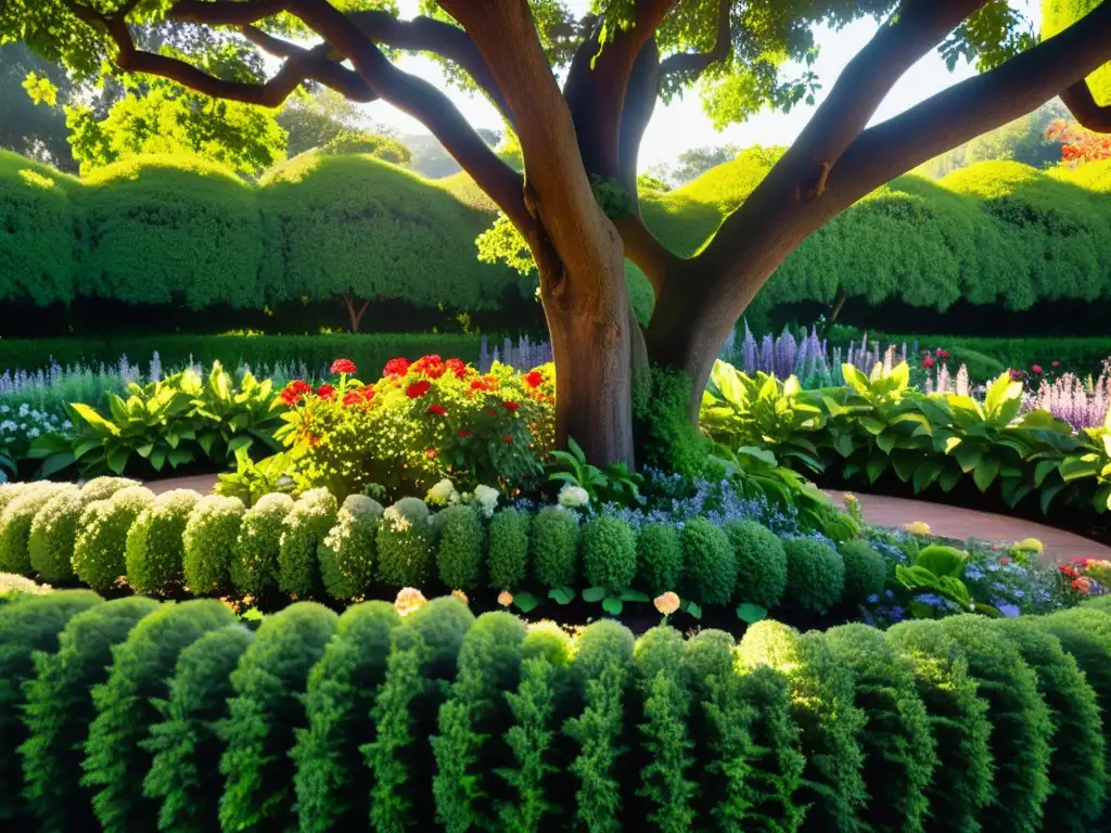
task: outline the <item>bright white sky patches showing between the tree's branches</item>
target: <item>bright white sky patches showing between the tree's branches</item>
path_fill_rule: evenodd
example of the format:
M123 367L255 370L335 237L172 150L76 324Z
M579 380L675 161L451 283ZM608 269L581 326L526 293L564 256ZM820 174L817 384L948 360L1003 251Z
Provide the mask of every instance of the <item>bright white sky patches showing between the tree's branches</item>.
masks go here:
M568 6L579 13L584 12L589 4L589 0L570 0L568 2ZM1017 4L1025 7L1024 11L1028 18L1037 20L1039 3L1020 2ZM418 13L417 0L400 0L399 6L402 18L410 18ZM733 124L718 132L710 119L702 112L697 87L690 90L683 99L675 100L669 106L664 106L662 101L658 102L641 144L641 169L647 170L653 164L671 162L679 153L690 148L725 143L741 148L752 144L790 144L810 119L814 107L821 103L824 94L832 88L841 70L868 43L877 28L878 24L874 21L864 19L858 20L840 31L833 31L825 27L819 27L814 30L820 52L813 69L822 83L822 91L815 97L813 107L800 104L790 113L764 111L742 124ZM448 87L439 67L432 60L419 56L406 57L398 62L398 66L443 89L473 126L494 130L502 128L502 121L497 111L486 99L470 97ZM873 122L897 116L907 108L974 73L975 70L963 61L950 72L941 57L935 51L931 52L915 63L894 86L880 106ZM785 74L790 77L790 68ZM428 130L420 122L384 102L366 104L362 109L368 120L394 128L399 133L428 133Z

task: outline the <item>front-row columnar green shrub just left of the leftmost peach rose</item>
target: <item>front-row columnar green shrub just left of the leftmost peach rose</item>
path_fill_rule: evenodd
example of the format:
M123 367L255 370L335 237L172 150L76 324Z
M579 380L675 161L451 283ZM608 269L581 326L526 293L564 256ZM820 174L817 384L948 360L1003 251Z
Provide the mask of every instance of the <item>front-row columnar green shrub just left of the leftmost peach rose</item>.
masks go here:
M309 725L298 732L290 753L306 833L358 826L369 817L372 782L360 747L374 740L370 712L386 679L390 633L400 623L397 610L386 602L348 608L309 672Z

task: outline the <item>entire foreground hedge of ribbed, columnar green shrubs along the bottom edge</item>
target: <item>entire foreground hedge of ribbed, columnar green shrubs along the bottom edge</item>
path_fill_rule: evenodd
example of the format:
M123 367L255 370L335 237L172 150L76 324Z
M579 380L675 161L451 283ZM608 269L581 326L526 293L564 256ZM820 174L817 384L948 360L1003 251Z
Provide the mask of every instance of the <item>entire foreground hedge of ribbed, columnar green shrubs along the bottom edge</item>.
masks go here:
M453 598L339 620L297 603L253 638L214 601L57 592L0 615L4 671L28 681L8 690L0 734L6 783L28 785L0 804L17 830L1109 821L1111 689L1082 673L1111 668L1098 608L888 633L761 622L739 644L665 625L634 639L613 621L569 636Z

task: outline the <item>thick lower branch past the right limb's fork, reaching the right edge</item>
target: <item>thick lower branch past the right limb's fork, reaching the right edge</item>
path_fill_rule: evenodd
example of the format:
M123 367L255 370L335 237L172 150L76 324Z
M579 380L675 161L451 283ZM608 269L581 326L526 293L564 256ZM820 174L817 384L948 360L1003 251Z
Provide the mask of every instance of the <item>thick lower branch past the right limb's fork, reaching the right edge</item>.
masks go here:
M1034 110L1111 60L1111 2L1059 34L900 116L869 128L845 151L827 183L848 205L950 148Z

